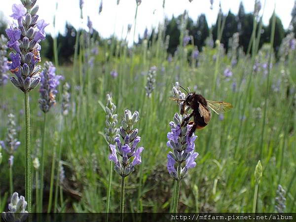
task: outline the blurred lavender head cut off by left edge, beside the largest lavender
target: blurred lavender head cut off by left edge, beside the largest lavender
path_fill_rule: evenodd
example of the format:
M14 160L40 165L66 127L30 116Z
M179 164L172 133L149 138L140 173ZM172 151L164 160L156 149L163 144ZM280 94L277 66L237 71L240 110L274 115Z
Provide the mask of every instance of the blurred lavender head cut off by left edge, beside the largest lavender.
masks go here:
M6 84L8 76L7 72L9 70L6 58L7 49L7 38L0 35L0 86Z

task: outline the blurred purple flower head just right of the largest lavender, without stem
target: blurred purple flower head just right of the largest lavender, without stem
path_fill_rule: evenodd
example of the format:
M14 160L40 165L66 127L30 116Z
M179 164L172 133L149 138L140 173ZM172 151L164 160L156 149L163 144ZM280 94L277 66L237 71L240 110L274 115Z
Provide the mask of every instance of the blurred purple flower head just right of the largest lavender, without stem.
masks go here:
M56 87L60 84L61 75L55 74L55 67L51 62L44 63L44 70L41 72L40 109L48 112L55 105L55 96L58 92Z

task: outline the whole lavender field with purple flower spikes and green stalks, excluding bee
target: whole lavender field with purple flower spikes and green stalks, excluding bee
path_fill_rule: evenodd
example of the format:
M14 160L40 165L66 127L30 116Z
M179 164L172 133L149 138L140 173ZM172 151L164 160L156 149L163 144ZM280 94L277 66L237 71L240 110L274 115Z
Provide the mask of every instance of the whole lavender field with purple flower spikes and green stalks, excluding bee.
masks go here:
M223 43L222 12L202 45L186 11L175 46L165 23L138 41L141 0L126 33L103 38L80 0L67 62L58 37L42 54L41 2L11 4L0 36L0 212L296 212L296 39L278 42L275 13L263 34L263 2L243 48L243 28ZM232 109L196 103L194 131L186 91Z

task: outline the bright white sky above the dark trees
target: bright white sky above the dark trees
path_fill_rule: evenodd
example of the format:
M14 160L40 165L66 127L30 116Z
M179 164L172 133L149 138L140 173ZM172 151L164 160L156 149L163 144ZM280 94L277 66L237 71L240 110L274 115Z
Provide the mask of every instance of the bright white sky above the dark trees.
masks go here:
M210 0L165 0L165 8L163 10L163 0L142 0L138 7L136 22L136 39L138 34L143 34L145 28L151 31L152 27L157 27L165 17L171 18L172 15L178 16L188 11L189 17L196 22L198 15L204 13L207 17L209 26L216 23L219 11L219 2L221 2L222 12L237 14L241 0L214 0L213 10L210 9ZM56 11L56 2L58 8ZM79 0L37 0L39 5L39 19L44 19L50 25L46 28L46 32L55 35L58 31L64 33L65 23L68 21L75 28L87 28L87 16L93 23L102 37L110 37L114 32L117 37L126 37L128 24L132 25L132 32L127 36L129 41L133 41L134 20L136 11L136 0L120 0L117 6L117 0L103 0L103 11L99 15L99 5L101 0L84 0L83 20L80 19ZM254 10L255 0L242 0L245 11ZM12 21L9 17L11 13L11 5L20 3L20 0L0 0L0 11L3 12L5 19ZM264 0L261 0L263 13ZM266 0L263 23L268 24L269 18L275 7L276 14L282 20L285 29L288 29L291 21L291 11L294 6L294 0ZM56 29L53 27L53 16L56 15Z

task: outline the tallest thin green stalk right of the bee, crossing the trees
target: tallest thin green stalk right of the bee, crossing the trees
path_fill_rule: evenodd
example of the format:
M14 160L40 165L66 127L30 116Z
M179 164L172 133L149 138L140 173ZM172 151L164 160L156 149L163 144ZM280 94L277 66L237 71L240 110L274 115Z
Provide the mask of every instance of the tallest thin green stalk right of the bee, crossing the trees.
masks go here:
M270 63L271 63L271 54L273 52L273 42L274 42L274 33L275 33L275 11L273 11L272 15L272 28L271 28L271 34L270 34L270 49L269 49L269 55L268 55L268 67L267 67L267 86L265 91L265 102L264 102L264 111L263 111L263 122L262 122L262 131L261 131L261 140L260 140L260 155L259 159L261 159L262 155L262 149L263 149L263 138L264 138L264 132L265 132L265 121L266 121L266 112L267 112L267 102L268 102L268 90L269 90L269 76L270 76Z

